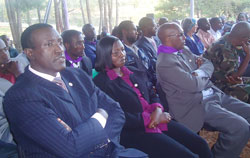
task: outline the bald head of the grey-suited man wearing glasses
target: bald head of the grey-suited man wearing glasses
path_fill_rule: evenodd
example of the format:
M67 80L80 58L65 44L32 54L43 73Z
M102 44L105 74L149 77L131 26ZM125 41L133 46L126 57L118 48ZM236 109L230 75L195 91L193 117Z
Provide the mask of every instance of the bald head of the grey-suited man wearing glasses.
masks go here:
M176 23L166 23L160 26L158 37L165 46L173 47L177 50L183 49L185 36L182 28Z

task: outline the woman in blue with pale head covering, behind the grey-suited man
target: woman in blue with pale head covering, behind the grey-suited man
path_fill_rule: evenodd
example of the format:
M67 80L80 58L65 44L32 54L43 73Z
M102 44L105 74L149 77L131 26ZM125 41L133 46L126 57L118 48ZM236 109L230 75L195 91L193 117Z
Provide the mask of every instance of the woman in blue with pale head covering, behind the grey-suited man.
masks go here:
M197 26L196 20L186 18L182 22L182 28L186 37L185 45L196 55L202 55L204 52L204 46L200 38L195 34Z

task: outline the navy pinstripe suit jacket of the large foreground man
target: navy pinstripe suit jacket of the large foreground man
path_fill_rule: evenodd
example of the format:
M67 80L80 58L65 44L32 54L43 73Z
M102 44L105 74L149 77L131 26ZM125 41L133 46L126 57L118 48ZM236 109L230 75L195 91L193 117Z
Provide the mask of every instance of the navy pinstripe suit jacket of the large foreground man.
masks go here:
M11 131L28 158L83 158L108 138L117 143L124 123L119 104L81 69L66 68L61 77L69 93L26 68L5 95ZM109 114L105 128L91 118L99 107Z

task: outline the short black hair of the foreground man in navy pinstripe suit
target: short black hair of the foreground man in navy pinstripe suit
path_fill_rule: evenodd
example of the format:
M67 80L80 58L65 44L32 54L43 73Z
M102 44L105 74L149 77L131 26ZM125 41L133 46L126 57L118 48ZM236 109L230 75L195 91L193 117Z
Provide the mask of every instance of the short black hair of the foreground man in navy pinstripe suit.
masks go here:
M22 48L23 49L34 48L34 44L33 44L32 39L31 39L32 33L36 30L39 30L41 28L46 28L46 27L53 28L51 25L45 24L45 23L37 23L37 24L34 24L34 25L27 27L21 35Z

